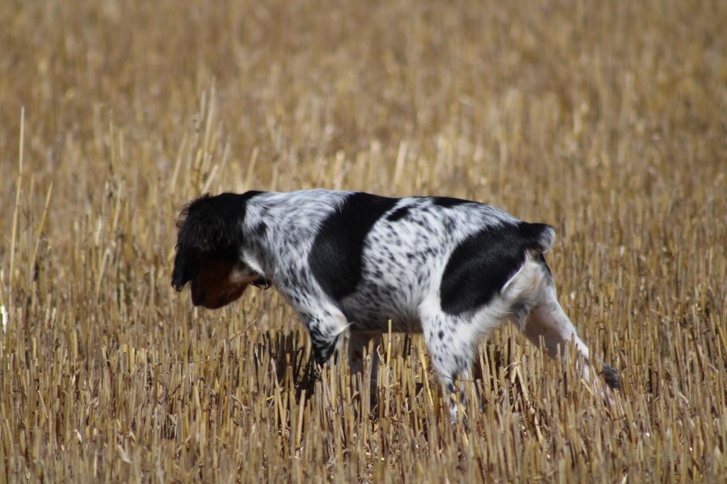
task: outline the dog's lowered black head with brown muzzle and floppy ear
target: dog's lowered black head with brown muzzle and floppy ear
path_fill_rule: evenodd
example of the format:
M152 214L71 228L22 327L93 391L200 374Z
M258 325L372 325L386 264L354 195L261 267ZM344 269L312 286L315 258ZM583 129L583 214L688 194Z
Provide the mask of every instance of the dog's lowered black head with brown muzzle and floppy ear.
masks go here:
M177 254L172 286L191 283L192 303L209 309L230 304L262 275L241 258L245 204L254 193L203 195L177 219Z

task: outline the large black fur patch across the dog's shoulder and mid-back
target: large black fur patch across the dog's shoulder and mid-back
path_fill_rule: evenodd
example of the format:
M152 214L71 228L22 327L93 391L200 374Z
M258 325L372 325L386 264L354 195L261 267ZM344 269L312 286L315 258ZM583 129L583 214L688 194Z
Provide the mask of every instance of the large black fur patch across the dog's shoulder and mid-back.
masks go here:
M334 300L356 291L361 281L366 235L398 201L398 198L353 193L324 220L308 262L316 281Z

